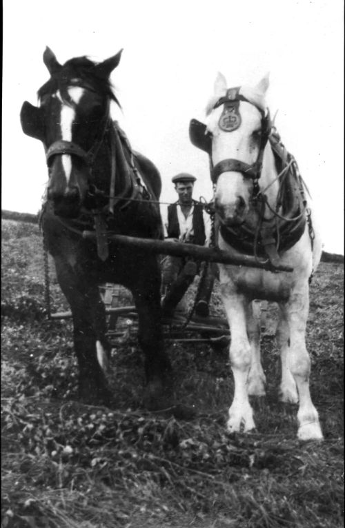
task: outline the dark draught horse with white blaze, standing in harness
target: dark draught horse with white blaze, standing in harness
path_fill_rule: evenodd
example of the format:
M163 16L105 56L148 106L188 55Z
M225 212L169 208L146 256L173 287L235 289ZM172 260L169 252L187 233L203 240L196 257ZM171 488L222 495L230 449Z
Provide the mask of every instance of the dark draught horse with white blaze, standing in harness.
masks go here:
M120 57L121 51L101 63L79 57L61 65L46 48L50 79L38 91L38 108L23 103L21 125L46 150L49 181L41 225L72 310L79 396L87 403L110 402L104 375L110 345L99 285L118 283L132 292L139 316L144 403L160 409L170 405L172 387L160 325L159 263L155 255L120 250L105 234L162 236L159 172L133 154L110 117L110 102L119 103L109 77ZM96 241L83 237L87 230Z

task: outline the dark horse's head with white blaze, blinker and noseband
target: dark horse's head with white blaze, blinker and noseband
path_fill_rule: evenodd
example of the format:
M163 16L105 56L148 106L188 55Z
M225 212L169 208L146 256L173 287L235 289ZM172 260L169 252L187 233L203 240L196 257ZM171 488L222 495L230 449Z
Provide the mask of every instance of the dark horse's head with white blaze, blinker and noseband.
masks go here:
M21 108L23 132L46 150L47 196L59 216L78 216L94 183L110 101L118 103L109 77L121 52L101 63L78 57L61 65L46 48L43 62L50 79L38 91L39 106L26 101Z

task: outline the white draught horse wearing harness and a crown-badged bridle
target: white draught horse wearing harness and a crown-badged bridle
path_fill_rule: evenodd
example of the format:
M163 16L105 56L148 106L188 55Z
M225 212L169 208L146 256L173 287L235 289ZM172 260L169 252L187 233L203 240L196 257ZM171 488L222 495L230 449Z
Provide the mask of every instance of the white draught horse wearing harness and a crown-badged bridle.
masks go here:
M280 400L299 402L298 438L321 439L309 390L306 322L309 281L319 263L322 243L295 159L270 120L267 89L268 76L255 87L228 90L226 79L218 74L215 95L206 109L206 127L195 120L190 125L191 141L210 154L219 248L234 255L255 255L268 265L293 267L293 272L275 273L219 265L235 380L227 425L230 432L255 428L248 396L264 396L266 383L255 300L265 299L279 305Z

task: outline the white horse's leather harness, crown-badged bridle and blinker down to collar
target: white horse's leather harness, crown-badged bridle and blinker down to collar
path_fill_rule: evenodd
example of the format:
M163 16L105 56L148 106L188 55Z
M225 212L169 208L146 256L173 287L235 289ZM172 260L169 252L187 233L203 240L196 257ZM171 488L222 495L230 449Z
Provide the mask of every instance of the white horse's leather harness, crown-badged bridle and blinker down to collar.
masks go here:
M297 163L291 154L288 154L286 148L280 141L279 134L275 132L275 127L270 119L270 113L264 112L262 108L248 100L244 95L239 93L240 88L230 88L227 90L225 97L221 97L213 105L213 110L224 105L223 112L219 117L219 128L225 132L232 132L239 128L241 116L238 111L240 101L245 101L254 105L259 110L261 119L261 136L259 143L259 152L256 161L249 165L238 159L224 159L213 166L212 160L212 134L208 132L206 125L192 119L190 121L190 141L197 148L204 150L210 160L210 177L213 182L213 190L216 192L217 181L219 176L224 172L240 172L244 177L253 181L253 194L251 202L257 210L259 221L255 228L243 225L228 227L220 223L219 230L224 240L239 252L254 254L255 256L268 256L274 265L279 262L279 251L285 251L296 243L304 232L306 223L306 199L304 196L304 182L300 176ZM275 209L268 203L265 191L272 184L270 183L264 190L259 187L259 179L262 175L262 164L264 150L270 142L273 153L277 159L282 162L282 170L277 175L275 181L279 180L279 193ZM285 182L285 183L284 183ZM290 196L290 205L284 215L279 214L282 206L284 188L288 185L288 196ZM266 209L273 213L272 218L264 216ZM216 213L212 208L213 214ZM311 235L312 226L308 217L309 234ZM311 243L313 240L311 236Z

